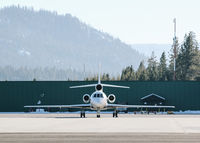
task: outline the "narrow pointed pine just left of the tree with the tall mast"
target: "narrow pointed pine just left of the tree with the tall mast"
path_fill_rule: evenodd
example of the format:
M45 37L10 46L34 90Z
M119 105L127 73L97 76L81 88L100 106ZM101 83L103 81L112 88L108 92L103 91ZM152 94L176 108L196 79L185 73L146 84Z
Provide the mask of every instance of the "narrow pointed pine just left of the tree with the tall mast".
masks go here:
M165 52L163 52L160 57L160 63L158 66L158 76L159 76L158 79L161 81L167 80L167 64L166 64Z

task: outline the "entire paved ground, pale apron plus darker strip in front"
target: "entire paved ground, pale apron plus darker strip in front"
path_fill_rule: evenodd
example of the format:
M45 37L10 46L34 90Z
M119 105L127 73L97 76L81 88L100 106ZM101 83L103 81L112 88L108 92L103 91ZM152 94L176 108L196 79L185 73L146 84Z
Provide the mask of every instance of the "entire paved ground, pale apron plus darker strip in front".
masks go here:
M200 115L0 114L0 143L200 142Z

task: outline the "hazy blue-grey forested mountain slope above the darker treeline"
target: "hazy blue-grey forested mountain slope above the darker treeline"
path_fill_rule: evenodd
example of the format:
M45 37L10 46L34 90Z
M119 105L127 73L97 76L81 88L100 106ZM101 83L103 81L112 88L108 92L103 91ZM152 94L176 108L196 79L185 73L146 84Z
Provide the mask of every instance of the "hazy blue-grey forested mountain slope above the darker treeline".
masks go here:
M131 46L70 14L16 6L0 9L1 68L82 72L85 65L86 72L94 73L101 62L103 72L115 74L127 65L136 68L144 59Z

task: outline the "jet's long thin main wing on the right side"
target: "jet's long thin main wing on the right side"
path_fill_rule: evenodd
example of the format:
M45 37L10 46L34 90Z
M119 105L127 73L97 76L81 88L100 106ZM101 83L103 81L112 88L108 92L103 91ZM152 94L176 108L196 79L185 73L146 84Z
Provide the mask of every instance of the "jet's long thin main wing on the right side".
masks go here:
M108 108L175 108L175 106L158 106L158 105L121 105L108 104Z

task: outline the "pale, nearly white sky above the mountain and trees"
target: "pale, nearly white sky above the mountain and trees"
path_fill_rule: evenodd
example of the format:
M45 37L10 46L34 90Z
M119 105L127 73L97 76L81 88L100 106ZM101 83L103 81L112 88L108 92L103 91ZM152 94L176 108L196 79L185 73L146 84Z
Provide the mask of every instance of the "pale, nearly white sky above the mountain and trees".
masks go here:
M9 5L70 13L128 44L171 44L173 19L177 36L194 31L200 42L200 0L0 0Z

